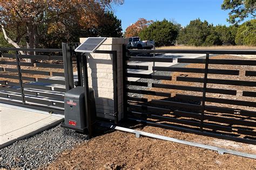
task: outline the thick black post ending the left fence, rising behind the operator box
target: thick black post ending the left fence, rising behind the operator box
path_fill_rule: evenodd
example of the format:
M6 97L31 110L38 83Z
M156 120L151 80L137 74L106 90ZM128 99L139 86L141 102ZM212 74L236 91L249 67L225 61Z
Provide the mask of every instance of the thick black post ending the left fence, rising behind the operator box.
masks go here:
M62 43L62 54L63 54L63 62L64 62L64 70L65 70L64 74L65 74L66 91L74 88L71 50L72 50L72 48L69 47L69 44Z

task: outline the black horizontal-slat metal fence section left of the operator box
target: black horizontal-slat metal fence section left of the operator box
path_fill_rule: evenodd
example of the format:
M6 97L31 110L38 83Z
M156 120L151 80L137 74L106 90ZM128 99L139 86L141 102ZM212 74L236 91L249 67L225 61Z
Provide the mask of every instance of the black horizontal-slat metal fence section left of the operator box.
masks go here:
M19 51L34 55L21 55ZM0 53L1 103L64 113L62 49L0 48Z

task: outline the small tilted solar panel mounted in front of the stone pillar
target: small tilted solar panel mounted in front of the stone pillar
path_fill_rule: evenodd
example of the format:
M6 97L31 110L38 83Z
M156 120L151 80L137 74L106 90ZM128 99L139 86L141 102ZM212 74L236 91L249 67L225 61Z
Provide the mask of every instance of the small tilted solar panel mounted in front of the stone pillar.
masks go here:
M105 40L105 37L89 37L75 49L75 52L94 53Z

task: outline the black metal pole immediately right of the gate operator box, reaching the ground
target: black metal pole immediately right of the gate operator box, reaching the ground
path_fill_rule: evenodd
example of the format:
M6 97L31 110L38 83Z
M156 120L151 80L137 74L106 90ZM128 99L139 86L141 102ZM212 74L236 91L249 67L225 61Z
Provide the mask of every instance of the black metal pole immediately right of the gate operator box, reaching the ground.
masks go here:
M88 71L87 71L87 58L86 55L83 55L83 79L84 79L84 98L85 98L85 115L86 115L86 126L88 130L89 138L92 137L92 126L91 126L91 115L89 107L89 83L88 83Z

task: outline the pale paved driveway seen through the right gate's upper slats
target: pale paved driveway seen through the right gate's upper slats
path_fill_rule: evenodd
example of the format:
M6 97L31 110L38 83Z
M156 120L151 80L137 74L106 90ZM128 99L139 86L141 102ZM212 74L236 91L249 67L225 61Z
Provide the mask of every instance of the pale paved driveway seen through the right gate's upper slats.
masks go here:
M194 59L194 58L198 58L200 56L205 56L205 54L172 54L172 53L161 54L156 57L173 58L173 62L155 62L155 66L170 67L170 66L176 65L178 63L177 62L178 58ZM149 66L149 70L128 69L127 70L128 73L139 73L139 74L153 73L153 70L152 70L153 62L130 61L130 62L128 62L128 65ZM129 81L137 81L139 79L140 78L136 78L136 77L128 77Z

